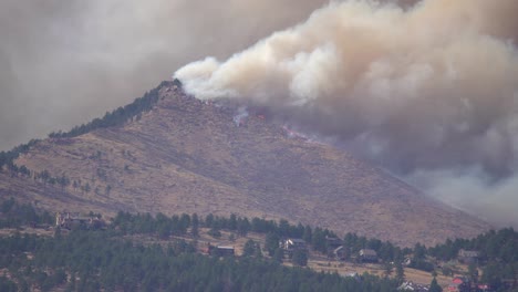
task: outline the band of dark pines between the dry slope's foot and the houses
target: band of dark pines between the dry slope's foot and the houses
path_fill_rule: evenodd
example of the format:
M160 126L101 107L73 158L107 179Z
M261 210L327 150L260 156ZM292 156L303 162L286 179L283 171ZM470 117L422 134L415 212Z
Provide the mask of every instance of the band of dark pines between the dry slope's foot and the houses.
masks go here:
M301 238L310 243L315 252L328 254L331 252L327 238L334 238L336 234L328 229L310 226L290 225L287 220L265 220L261 218L240 218L235 215L229 218L208 215L205 219L197 215L166 217L158 213L156 217L151 215L131 215L120 212L112 225L124 234L128 233L148 233L159 237L169 237L174 234L185 234L188 228L196 233L199 227L210 228L214 236L218 234L220 229L236 231L238 234L246 236L253 231L266 233L265 250L270 257L276 258L279 253L279 240L282 238ZM423 270L432 273L443 273L444 275L454 275L453 269L448 262L456 260L458 252L464 250L476 250L479 258L476 263L472 263L466 274L473 282L488 283L495 290L506 290L505 282L516 286L518 281L518 232L512 228L505 228L498 231L491 230L474 239L446 240L445 243L427 248L417 243L413 248L401 248L388 241L379 239L369 239L355 233L346 233L343 237L342 246L348 250L346 260L354 260L352 255L358 254L361 249L372 249L376 251L382 263L388 271L395 269L396 279L404 280L402 272L403 261L408 259L408 268ZM439 263L445 264L439 264ZM480 269L481 277L473 271Z

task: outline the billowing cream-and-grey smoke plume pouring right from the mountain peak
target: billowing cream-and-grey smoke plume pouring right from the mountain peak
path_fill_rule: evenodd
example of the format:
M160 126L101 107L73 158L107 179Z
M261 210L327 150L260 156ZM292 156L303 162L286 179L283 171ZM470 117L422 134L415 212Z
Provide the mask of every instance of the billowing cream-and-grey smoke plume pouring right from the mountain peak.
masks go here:
M515 0L335 1L175 77L198 98L291 113L444 201L518 225L516 11Z

